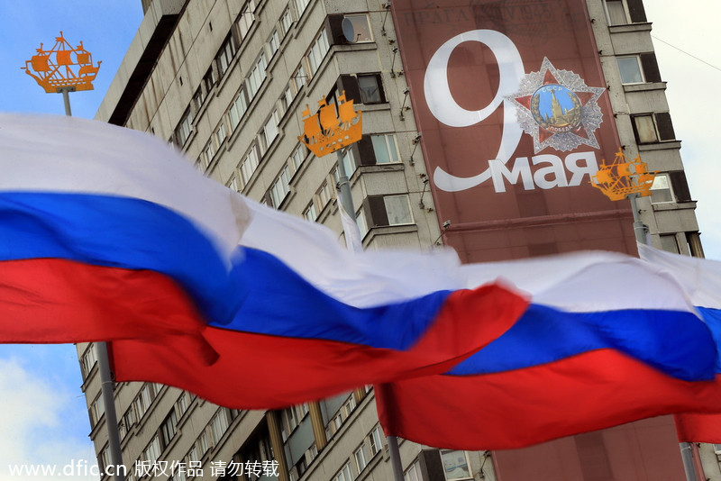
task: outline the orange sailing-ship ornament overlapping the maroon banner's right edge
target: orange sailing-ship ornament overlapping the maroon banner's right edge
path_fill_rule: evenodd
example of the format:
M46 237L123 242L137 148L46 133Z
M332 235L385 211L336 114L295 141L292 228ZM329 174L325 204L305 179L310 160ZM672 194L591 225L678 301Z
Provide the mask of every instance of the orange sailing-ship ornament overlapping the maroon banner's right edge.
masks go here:
M591 177L591 185L612 201L617 201L631 194L651 195L654 177L655 172L649 172L648 166L638 156L628 159L619 149L613 162L601 164L596 175Z

